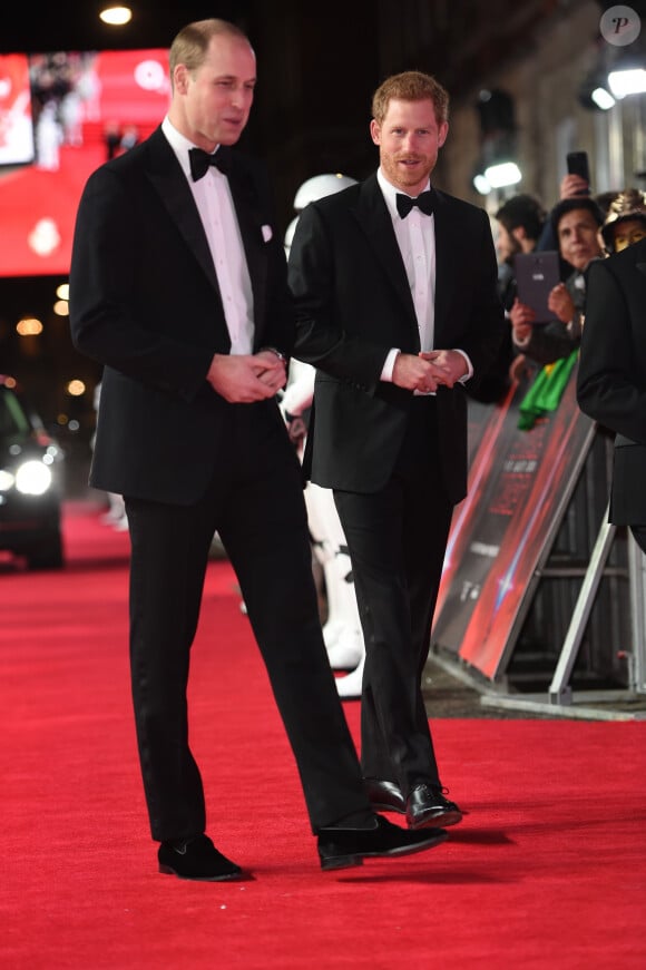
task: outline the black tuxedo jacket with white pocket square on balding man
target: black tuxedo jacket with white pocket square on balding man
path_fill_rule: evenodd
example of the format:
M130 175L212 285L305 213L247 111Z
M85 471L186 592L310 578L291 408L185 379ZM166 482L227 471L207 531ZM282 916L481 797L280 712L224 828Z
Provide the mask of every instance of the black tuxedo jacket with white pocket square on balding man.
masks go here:
M229 175L253 286L255 347L288 353L294 313L265 170L232 149ZM72 342L105 365L90 483L155 501L198 499L227 408L206 382L231 341L186 177L158 128L88 179L70 271ZM274 401L265 402L282 423Z

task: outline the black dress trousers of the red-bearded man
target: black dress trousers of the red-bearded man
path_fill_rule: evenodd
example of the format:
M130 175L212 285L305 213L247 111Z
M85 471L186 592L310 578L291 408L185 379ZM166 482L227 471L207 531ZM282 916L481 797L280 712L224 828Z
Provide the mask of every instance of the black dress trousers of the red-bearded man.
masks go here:
M365 639L362 771L404 794L419 782L441 783L421 689L452 516L435 403L413 398L383 489L334 491Z

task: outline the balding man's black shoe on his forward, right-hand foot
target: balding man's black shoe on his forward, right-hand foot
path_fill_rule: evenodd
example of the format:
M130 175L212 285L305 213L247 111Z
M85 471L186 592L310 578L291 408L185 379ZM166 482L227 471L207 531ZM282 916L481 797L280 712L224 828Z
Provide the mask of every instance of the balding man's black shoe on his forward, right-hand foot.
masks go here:
M322 829L319 832L321 869L349 869L364 859L411 855L433 849L448 837L442 829L409 832L376 815L374 829Z

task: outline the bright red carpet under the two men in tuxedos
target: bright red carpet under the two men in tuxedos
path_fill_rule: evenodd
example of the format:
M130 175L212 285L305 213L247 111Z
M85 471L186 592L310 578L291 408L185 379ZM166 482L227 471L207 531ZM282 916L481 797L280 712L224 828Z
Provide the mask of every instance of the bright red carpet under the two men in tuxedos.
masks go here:
M642 968L646 724L439 721L469 815L431 852L323 874L227 562L193 662L209 832L253 871L156 872L127 672L128 540L66 517L60 574L0 572L2 967ZM359 705L345 705L358 736Z

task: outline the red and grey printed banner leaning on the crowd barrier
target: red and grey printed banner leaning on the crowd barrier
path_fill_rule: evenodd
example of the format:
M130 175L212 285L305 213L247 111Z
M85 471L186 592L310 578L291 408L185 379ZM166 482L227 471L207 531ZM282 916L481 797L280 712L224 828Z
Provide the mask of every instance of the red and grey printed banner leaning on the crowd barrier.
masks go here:
M431 637L491 680L505 673L595 434L576 403L576 368L556 410L520 430L527 390L470 402L469 494L454 511Z

